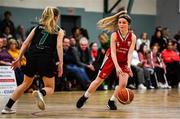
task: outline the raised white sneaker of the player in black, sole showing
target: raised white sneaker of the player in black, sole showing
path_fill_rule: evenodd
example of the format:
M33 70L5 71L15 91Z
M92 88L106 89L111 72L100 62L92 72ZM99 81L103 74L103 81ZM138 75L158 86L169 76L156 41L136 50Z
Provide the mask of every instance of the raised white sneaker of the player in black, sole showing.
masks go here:
M44 102L43 95L41 94L41 92L39 90L35 90L33 91L32 94L36 98L36 101L37 101L36 103L39 109L45 110L45 102Z

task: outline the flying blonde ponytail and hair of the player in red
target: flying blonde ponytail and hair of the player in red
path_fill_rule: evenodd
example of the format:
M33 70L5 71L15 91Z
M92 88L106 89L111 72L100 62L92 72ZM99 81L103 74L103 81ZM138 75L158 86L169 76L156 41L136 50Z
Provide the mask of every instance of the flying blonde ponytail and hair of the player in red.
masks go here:
M129 15L127 14L127 10L125 10L124 8L121 8L118 13L112 16L100 19L97 23L97 27L101 30L107 30L108 32L112 32L118 28L118 19L123 16L129 17Z

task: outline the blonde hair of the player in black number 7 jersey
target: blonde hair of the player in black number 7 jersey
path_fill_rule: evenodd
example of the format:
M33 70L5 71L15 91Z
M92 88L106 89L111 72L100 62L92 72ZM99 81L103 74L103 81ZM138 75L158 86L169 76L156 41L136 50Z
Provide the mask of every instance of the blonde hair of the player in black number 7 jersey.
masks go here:
M56 19L55 19L56 18ZM39 23L44 25L45 30L49 33L57 33L58 25L57 21L59 18L59 10L56 7L46 7L41 15Z

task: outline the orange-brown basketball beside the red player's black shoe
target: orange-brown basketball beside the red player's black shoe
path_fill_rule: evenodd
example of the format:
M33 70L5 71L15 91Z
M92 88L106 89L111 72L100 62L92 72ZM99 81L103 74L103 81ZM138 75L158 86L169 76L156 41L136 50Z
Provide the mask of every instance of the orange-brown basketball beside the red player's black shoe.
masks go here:
M119 88L116 95L121 104L130 104L134 99L134 93L128 88Z

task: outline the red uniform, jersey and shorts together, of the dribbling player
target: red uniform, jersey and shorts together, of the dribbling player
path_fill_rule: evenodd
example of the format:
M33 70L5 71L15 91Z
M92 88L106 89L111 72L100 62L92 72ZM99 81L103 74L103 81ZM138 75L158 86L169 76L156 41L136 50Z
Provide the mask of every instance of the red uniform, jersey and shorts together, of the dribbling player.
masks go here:
M119 66L123 72L129 73L127 69L128 52L132 43L132 32L128 32L125 38L122 37L120 31L116 31L116 56ZM106 79L114 68L114 63L111 57L111 48L106 52L104 61L100 68L99 77Z

